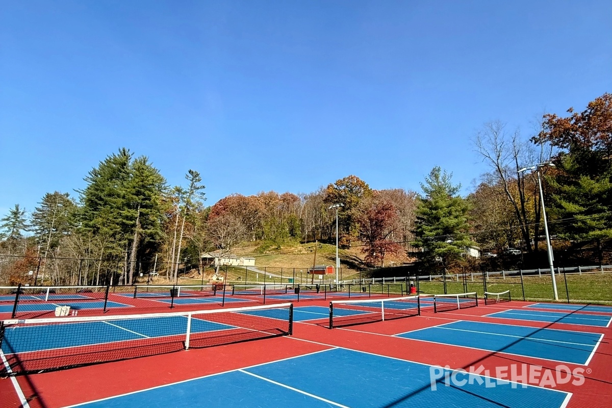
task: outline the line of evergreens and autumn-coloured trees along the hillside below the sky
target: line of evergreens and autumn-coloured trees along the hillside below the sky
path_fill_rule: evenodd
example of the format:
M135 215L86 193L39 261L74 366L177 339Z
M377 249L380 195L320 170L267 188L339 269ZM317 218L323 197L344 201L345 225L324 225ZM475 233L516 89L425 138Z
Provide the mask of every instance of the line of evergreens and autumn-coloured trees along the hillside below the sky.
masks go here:
M54 284L132 284L151 269L176 280L186 264L203 270L207 251L223 256L244 242L260 253L332 242L335 204L340 246L360 248L364 265L400 256L447 266L466 262L468 247L534 254L544 242L537 171L554 246L589 249L603 262L612 237L611 94L581 112L544 114L528 136L489 122L472 146L488 171L467 196L450 172L435 167L421 193L374 190L350 175L312 193L236 193L212 206L204 205L198 171L171 187L147 157L119 149L89 171L75 196L50 192L31 213L15 204L0 219L0 281L24 282L23 271L34 268ZM530 169L540 163L554 166ZM66 276L77 268L78 276Z

